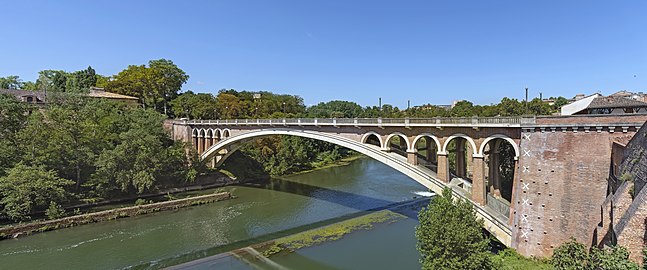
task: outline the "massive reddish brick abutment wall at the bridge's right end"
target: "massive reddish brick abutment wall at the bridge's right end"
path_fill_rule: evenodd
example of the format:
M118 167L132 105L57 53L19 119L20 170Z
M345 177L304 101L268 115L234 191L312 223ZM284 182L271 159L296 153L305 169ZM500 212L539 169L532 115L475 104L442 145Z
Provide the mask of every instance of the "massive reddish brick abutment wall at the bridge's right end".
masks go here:
M612 144L635 131L524 129L513 189L513 247L549 256L571 236L591 245L607 195Z

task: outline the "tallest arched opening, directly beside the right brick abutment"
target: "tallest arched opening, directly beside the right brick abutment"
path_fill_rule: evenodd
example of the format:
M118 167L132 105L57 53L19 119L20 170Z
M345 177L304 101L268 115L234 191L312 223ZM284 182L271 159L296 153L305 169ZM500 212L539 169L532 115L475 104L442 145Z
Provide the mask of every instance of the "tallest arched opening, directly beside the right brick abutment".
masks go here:
M487 174L488 197L512 201L512 183L515 173L515 148L503 138L491 139L483 149Z

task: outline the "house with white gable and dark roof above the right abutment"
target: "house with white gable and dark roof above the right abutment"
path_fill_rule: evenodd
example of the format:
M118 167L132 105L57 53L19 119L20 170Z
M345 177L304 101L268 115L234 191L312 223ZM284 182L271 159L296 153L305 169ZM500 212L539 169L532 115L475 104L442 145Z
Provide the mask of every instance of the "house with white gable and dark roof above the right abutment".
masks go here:
M593 94L562 106L562 115L647 113L647 103L621 97Z

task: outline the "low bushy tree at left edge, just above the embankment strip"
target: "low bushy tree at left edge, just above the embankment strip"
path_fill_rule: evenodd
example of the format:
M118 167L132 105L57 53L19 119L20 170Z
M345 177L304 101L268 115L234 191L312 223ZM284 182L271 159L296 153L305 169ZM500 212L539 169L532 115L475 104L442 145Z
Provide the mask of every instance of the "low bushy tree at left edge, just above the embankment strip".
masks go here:
M51 202L65 201L65 187L71 184L72 181L59 178L43 166L18 163L0 177L2 214L14 221L29 219L30 213L45 210Z

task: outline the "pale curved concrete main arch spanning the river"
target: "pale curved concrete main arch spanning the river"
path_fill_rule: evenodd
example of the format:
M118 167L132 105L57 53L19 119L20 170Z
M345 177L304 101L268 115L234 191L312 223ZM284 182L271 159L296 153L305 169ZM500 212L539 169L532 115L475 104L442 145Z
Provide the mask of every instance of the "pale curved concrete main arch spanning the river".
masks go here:
M446 187L446 184L442 181L435 178L435 175L431 171L426 170L420 166L414 166L407 163L406 158L403 158L397 154L391 154L384 151L381 151L379 147L374 145L362 143L368 135L364 135L360 141L352 140L349 138L344 138L337 135L308 131L308 130L294 130L294 129L260 129L256 131L250 131L247 133L235 135L229 138L224 138L222 141L211 146L209 149L204 151L200 156L201 160L208 160L214 158L219 153L222 156L221 160L227 158L228 155L236 151L236 149L244 142L252 140L258 137L272 136L272 135L288 135L288 136L299 136L304 138L310 138L315 140L321 140L329 143L334 143L336 145L346 147L348 149L362 153L368 157L371 157L379 162L384 163L385 165L403 173L412 180L420 183L429 190L440 194L442 190ZM221 151L226 150L225 154L222 154ZM454 190L454 196L458 199L464 199L472 203L474 209L476 210L477 216L482 218L484 221L484 227L490 231L499 241L510 246L512 242L512 232L507 225L507 221L502 221L488 213L488 211L478 204L474 203L466 193L457 192Z

